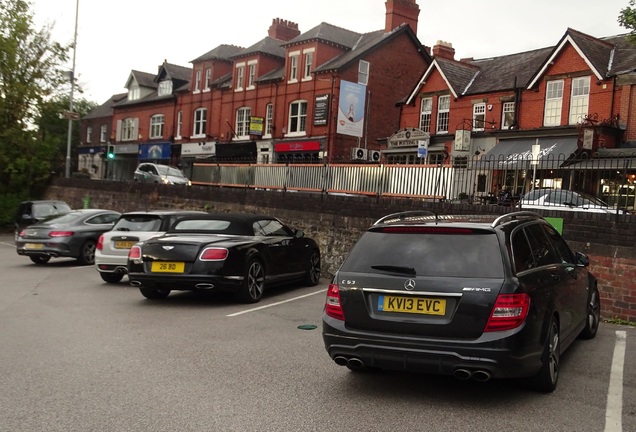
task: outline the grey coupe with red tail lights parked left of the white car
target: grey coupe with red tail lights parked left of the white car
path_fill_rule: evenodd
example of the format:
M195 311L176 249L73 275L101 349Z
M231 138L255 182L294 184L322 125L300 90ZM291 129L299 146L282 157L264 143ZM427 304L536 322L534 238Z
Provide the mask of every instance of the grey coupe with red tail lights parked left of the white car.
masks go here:
M97 239L113 228L120 215L112 210L71 210L23 229L16 250L36 264L46 264L52 257L76 258L82 265L93 264Z

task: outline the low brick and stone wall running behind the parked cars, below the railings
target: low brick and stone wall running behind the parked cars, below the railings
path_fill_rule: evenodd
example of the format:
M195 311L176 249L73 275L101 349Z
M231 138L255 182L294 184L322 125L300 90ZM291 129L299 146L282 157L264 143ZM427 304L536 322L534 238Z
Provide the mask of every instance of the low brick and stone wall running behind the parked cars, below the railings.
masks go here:
M180 208L273 215L305 231L320 245L323 276L338 269L361 233L380 217L406 210L441 214L503 214L500 206L447 204L416 199L384 199L204 186L165 186L55 178L46 198L63 199L74 208L85 200L92 208L121 212ZM544 212L561 217L563 236L584 252L597 276L603 317L636 322L636 217L582 212ZM632 221L633 219L633 221Z

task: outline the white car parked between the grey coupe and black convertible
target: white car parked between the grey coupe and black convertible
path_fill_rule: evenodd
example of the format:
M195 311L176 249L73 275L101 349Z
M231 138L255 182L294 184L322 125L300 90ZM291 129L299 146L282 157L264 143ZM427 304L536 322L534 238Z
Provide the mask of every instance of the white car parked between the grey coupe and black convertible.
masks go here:
M105 282L117 283L127 273L128 251L139 241L164 234L180 217L207 214L186 210L136 211L122 214L111 231L99 236L95 268Z

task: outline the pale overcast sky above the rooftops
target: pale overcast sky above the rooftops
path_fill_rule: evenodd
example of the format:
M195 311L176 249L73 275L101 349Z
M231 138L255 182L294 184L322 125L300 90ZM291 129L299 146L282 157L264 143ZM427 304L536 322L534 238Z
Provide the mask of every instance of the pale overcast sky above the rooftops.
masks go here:
M83 97L103 103L131 70L156 73L220 44L248 47L267 36L272 19L298 23L305 32L321 22L359 33L384 28L385 0L29 0L36 27L73 41L79 1L75 74ZM595 37L627 33L617 18L629 0L417 0L417 36L455 48L455 58L485 58L554 46L568 27ZM72 52L71 52L72 56ZM69 69L72 63L68 64Z

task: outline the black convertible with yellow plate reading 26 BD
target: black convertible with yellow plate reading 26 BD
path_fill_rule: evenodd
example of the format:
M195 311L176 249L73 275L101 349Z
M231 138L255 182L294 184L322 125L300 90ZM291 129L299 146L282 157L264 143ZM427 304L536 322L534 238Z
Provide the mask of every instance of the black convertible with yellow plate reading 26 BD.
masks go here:
M274 285L314 286L319 278L318 244L270 216L188 216L128 254L128 279L149 299L171 290L223 290L254 303Z

